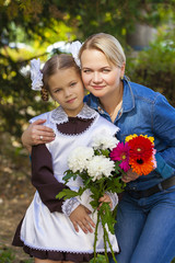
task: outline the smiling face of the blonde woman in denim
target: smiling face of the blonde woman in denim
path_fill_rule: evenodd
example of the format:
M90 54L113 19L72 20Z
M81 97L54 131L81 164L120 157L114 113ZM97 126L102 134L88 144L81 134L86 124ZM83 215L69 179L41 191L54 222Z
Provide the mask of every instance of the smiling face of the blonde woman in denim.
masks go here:
M81 68L85 88L100 99L113 96L122 85L120 77L124 77L125 65L121 68L115 66L97 49L82 53Z

